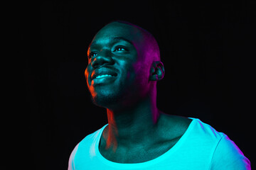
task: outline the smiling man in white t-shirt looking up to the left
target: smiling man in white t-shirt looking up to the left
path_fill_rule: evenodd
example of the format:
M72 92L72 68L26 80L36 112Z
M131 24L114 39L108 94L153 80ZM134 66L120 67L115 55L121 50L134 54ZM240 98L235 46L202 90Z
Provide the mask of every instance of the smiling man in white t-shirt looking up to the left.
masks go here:
M164 64L148 31L114 21L87 55L87 86L93 103L107 108L108 124L75 147L68 169L250 169L227 135L156 107Z

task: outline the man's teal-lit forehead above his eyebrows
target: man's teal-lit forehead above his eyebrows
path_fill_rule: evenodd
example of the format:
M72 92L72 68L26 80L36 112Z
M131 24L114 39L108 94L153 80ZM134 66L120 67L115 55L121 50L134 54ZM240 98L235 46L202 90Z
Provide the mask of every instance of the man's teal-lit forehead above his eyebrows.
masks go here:
M107 43L111 40L127 40L133 45L142 42L142 33L139 28L123 23L110 23L102 28L92 39L91 45Z

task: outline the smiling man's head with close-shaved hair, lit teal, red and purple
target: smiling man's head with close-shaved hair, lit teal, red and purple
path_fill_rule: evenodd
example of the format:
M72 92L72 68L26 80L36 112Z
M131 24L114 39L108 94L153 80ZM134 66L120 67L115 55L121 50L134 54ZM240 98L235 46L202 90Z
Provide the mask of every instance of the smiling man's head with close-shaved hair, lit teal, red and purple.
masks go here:
M85 78L97 106L130 106L164 77L159 47L148 31L124 21L103 27L88 48Z

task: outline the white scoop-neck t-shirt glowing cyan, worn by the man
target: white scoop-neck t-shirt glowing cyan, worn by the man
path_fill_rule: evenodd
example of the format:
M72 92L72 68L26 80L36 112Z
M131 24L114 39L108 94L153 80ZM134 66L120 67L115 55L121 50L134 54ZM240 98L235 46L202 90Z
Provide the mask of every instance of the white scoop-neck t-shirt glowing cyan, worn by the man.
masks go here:
M193 119L183 136L174 147L156 159L136 164L111 162L100 154L99 142L105 125L87 135L73 149L68 170L95 169L251 169L247 159L235 143L223 132L217 132L210 125Z

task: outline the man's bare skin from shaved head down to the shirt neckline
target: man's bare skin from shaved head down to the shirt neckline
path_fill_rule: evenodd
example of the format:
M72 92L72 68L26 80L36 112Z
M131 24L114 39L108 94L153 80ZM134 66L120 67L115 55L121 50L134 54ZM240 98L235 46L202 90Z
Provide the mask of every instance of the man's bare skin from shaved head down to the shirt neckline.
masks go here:
M88 50L87 86L92 101L107 109L109 123L99 149L112 162L155 159L173 147L191 123L156 107L156 82L164 77L164 64L151 42L137 26L115 22L95 35ZM111 76L95 78L102 74Z

